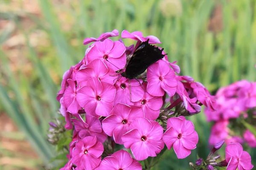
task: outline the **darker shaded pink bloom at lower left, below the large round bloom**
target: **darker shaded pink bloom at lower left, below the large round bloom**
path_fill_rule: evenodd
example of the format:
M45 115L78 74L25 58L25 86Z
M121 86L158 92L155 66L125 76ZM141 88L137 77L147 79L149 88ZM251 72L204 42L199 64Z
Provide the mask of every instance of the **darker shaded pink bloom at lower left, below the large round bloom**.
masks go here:
M107 135L102 130L102 125L95 116L85 114L84 119L79 114L74 115L77 119L71 119L74 123L76 131L78 131L79 137L84 138L86 136L96 136L97 141L103 143L107 139Z

